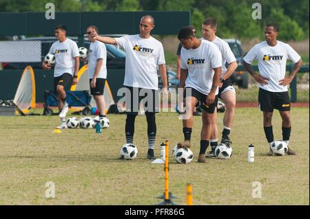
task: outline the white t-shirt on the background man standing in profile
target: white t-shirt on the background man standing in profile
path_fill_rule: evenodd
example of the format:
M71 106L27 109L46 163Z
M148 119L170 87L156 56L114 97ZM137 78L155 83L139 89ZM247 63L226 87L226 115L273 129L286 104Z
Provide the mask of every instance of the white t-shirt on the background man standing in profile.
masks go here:
M99 41L90 43L90 49L88 51L88 76L89 78L94 77L94 72L96 70L97 60L99 58L103 59L101 69L97 78L107 78L107 49L105 44Z

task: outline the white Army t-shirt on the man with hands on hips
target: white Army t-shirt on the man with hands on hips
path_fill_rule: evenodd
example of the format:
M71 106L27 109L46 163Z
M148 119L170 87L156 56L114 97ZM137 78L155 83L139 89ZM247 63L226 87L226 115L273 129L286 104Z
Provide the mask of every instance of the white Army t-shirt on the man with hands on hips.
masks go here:
M264 41L256 44L243 60L248 64L258 60L260 75L269 79L268 84L260 85L260 88L271 92L285 92L287 86L279 85L279 80L285 78L287 58L294 63L300 60L300 56L288 44L277 41L276 46L271 47Z

